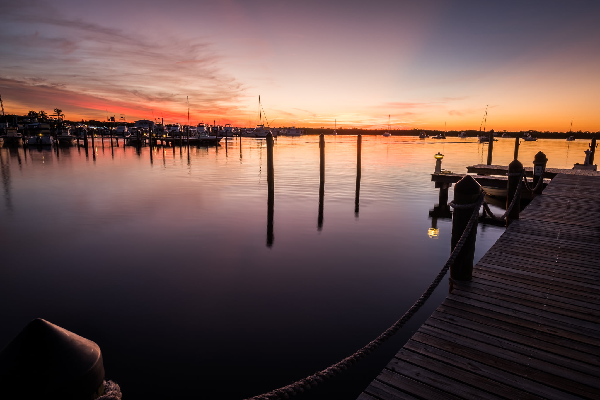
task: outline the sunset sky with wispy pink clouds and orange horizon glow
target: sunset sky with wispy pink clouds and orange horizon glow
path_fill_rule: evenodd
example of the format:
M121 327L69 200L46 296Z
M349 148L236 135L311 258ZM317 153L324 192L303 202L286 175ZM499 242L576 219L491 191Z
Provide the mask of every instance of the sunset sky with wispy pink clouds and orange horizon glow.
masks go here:
M598 1L0 0L7 113L600 131ZM249 117L250 116L250 117ZM263 117L264 121L264 117ZM337 123L336 123L337 121Z

